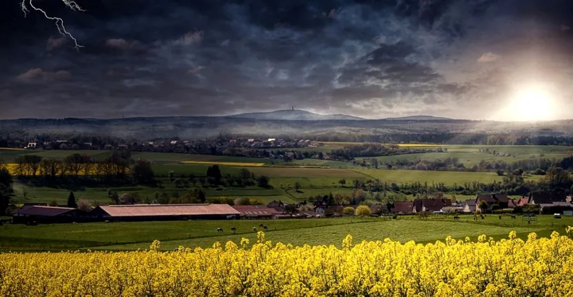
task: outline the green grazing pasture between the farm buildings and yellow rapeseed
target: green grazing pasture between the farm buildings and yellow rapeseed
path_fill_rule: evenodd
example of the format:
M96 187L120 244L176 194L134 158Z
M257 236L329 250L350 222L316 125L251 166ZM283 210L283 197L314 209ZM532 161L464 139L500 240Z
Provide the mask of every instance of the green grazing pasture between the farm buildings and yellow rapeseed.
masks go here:
M485 220L474 221L472 215L462 215L460 221L436 215L428 220L416 216L389 218L330 218L309 220L222 220L222 221L174 221L174 222L114 222L86 224L52 224L34 227L6 225L0 227L0 249L8 250L52 250L62 249L146 249L155 239L162 241L162 249L184 247L210 247L214 242L240 238L256 240L253 227L262 223L269 227L266 238L272 242L290 242L293 245L336 245L351 234L355 242L361 240L384 240L390 238L406 242L434 242L447 236L472 240L485 233L496 239L506 238L509 231L516 231L518 237L527 238L527 233L550 236L552 231L565 233L567 225L573 224L573 217L560 220L551 215L539 215L538 220L528 224L518 217L515 220L504 216L487 215ZM217 233L217 228L224 233ZM237 234L230 231L237 227Z

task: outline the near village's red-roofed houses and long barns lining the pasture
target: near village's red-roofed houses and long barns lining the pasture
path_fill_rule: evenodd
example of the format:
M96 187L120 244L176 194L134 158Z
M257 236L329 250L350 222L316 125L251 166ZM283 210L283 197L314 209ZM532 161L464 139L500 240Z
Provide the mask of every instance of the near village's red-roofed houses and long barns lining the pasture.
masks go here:
M479 209L482 201L487 209ZM477 195L475 199L455 202L450 199L415 199L414 201L394 202L392 204L373 204L371 213L412 214L420 212L440 213L476 213L491 211L494 205L503 209L524 207L535 204L539 208L570 207L571 198L561 192L534 192L527 198L511 199L507 195ZM231 220L231 219L280 219L280 218L324 218L342 216L344 208L352 205L326 205L314 202L302 207L302 204L285 204L273 201L265 205L229 204L128 204L98 206L91 211L82 211L68 207L48 207L46 204L24 205L12 217L13 223L53 223L53 222L103 222L103 221L153 221L153 220ZM563 214L567 214L564 213Z

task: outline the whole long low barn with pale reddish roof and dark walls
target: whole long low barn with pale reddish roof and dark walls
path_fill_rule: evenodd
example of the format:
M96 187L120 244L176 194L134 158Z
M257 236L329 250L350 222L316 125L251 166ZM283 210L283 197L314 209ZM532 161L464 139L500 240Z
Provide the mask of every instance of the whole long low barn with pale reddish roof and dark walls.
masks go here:
M99 220L224 220L239 218L229 204L133 204L96 207Z

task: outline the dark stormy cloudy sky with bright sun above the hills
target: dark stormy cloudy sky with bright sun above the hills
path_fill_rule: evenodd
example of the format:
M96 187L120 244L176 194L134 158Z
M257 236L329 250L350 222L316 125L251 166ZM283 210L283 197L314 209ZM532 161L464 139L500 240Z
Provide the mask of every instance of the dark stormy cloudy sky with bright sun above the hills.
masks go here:
M573 117L570 0L25 1L0 1L1 119Z

